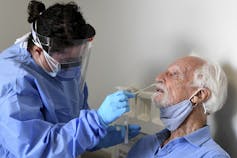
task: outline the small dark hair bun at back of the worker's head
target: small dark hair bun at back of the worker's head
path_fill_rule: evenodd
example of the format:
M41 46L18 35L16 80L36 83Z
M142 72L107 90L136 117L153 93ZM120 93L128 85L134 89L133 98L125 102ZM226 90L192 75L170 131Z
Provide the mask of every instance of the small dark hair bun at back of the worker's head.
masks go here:
M43 11L45 11L45 5L42 2L36 0L30 1L28 5L28 22L33 23Z

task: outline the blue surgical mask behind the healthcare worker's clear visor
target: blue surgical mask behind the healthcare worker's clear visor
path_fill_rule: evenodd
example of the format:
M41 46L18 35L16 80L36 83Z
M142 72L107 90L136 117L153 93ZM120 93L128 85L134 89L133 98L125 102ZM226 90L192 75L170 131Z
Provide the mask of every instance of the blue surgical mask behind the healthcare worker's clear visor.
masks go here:
M80 74L81 74L80 67L77 66L77 67L70 67L67 69L61 69L58 72L57 77L62 81L68 81L75 78L79 78Z

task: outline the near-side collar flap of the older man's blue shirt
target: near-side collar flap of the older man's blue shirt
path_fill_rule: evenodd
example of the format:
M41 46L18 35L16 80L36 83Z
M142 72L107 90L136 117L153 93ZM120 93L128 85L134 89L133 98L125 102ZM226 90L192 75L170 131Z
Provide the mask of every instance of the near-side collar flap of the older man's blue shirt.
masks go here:
M196 130L195 132L192 132L184 136L184 139L186 139L189 143L195 146L201 146L210 138L211 138L211 133L210 133L209 126L205 126L203 128Z

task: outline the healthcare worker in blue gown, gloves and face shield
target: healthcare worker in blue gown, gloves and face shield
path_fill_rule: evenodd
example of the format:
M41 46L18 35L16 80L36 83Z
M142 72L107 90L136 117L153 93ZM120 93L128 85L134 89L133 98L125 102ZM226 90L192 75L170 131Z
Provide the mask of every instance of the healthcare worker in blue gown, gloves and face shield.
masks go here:
M129 111L126 91L87 105L85 73L95 35L75 3L28 6L31 32L0 53L0 157L70 158L121 143L109 124ZM130 138L140 127L129 126Z

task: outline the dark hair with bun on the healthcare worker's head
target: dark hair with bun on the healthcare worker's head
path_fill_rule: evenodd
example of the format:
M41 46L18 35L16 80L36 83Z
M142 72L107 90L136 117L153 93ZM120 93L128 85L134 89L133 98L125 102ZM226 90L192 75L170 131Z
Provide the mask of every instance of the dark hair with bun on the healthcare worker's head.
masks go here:
M74 2L56 3L46 9L42 2L32 0L28 5L28 14L28 22L36 22L38 34L54 39L55 45L51 49L55 51L72 46L70 43L72 39L92 38L95 35L95 29L86 24L79 7ZM56 39L63 39L63 42ZM30 35L28 49L33 45Z

